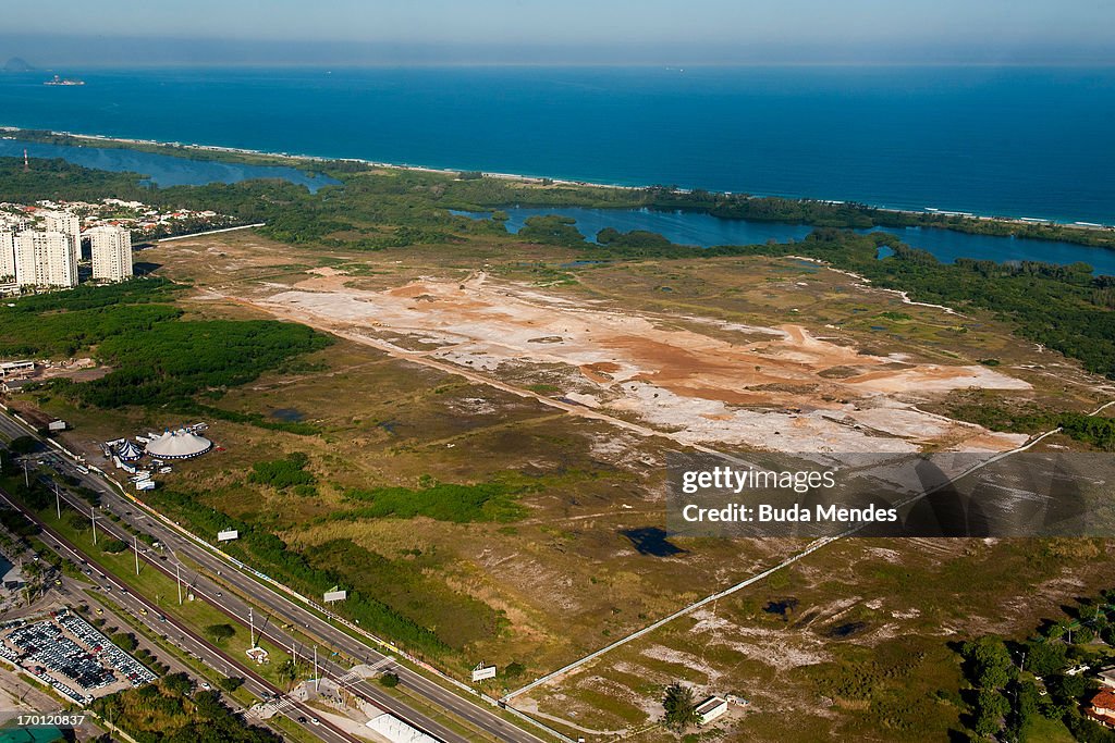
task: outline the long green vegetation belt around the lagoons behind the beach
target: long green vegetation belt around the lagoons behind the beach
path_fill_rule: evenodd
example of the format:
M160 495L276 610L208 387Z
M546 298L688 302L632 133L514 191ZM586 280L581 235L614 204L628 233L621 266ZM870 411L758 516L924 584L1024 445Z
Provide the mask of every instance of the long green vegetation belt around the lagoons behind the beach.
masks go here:
M1083 265L1020 265L960 260L941 264L923 251L902 245L893 235L862 236L842 232L847 227L875 225L937 226L981 234L1015 234L1049 239L1075 239L1085 244L1115 246L1111 233L1050 225L1006 224L940 215L905 215L855 204L827 204L746 195L680 193L669 188L611 189L586 186L553 186L496 178L456 179L450 175L413 170L372 170L338 166L330 170L343 180L310 195L306 188L284 182L244 182L202 187L151 189L127 186L127 177L106 175L76 166L21 173L16 158L0 159L0 186L9 198L43 198L85 180L95 184L98 197L143 198L155 205L212 208L237 219L266 222L264 234L289 243L382 250L413 244L453 243L463 233L506 235L498 219L474 221L449 215L449 208L491 209L506 204L580 205L604 207L688 208L731 218L774 219L817 225L808 239L786 245L727 246L708 250L671 245L659 235L602 231L600 245L590 245L566 217L533 217L518 239L573 247L590 257L644 258L716 255L799 255L828 261L853 271L876 285L906 290L924 302L990 310L1012 322L1024 338L1079 359L1089 371L1115 375L1115 277L1094 277ZM38 164L37 164L38 165ZM127 192L127 193L125 193ZM142 192L142 193L139 193ZM385 226L389 226L385 232ZM894 255L875 260L880 245ZM139 324L157 322L129 311L119 320ZM51 321L55 322L55 321ZM4 323L7 326L7 323ZM94 333L110 332L91 323ZM72 327L72 326L68 326ZM64 329L54 329L61 344ZM2 333L3 331L0 331ZM13 338L21 338L12 333ZM9 343L11 336L9 336ZM95 341L94 341L95 342ZM2 348L2 344L0 344Z

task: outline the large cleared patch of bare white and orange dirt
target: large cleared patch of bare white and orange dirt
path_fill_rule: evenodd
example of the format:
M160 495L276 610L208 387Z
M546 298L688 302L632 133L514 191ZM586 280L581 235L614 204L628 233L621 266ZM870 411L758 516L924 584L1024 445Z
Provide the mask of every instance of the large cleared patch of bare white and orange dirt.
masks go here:
M321 273L321 272L319 272ZM917 398L1029 384L981 365L909 363L798 324L738 325L576 302L479 273L353 289L334 272L241 296L416 361L500 382L545 370L560 402L631 420L681 444L804 452L999 451L1025 437L932 414ZM702 332L714 325L718 336ZM444 366L443 366L444 368ZM555 369L556 368L556 369Z

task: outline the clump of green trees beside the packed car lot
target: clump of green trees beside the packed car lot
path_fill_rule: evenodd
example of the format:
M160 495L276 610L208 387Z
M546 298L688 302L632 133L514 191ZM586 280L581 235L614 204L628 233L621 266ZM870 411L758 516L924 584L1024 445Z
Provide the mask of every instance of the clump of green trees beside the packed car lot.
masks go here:
M250 725L230 710L216 691L193 691L185 674L117 692L91 705L101 718L137 743L279 743L271 731Z

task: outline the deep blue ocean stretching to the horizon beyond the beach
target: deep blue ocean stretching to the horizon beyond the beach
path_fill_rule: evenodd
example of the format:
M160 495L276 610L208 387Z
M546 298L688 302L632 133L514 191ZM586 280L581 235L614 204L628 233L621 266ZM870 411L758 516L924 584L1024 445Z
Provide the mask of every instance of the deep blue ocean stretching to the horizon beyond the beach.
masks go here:
M0 124L623 185L1115 223L1115 68L0 74Z

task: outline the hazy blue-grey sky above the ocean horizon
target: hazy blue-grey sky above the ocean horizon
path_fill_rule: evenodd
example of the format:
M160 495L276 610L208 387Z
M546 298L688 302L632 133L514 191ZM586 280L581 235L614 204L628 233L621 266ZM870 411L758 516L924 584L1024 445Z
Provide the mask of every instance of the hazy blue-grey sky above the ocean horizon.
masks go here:
M1115 0L37 0L32 63L1115 62Z

